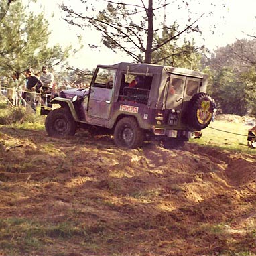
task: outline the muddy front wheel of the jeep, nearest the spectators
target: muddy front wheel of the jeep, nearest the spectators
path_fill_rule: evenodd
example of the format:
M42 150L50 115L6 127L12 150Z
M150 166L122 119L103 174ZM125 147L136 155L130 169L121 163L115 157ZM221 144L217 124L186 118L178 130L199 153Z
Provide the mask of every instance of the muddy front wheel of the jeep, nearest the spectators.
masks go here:
M60 108L50 111L46 117L45 127L50 136L74 135L76 122L69 109Z

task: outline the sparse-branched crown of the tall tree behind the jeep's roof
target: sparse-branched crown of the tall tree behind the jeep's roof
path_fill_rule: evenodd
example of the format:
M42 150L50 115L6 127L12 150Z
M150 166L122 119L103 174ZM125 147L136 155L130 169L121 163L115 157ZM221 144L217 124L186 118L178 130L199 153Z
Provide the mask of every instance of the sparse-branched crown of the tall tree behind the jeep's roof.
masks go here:
M188 57L196 51L194 44L185 40L184 44L178 46L177 40L186 34L200 31L197 23L202 13L194 19L190 15L184 24L177 24L175 20L170 24L166 22L165 11L184 13L184 9L190 7L187 1L141 0L127 3L99 0L97 6L102 9L95 9L94 1L81 2L79 10L74 9L73 5L61 5L66 13L64 19L78 27L96 29L105 46L113 51L126 52L135 62L174 63L180 56ZM171 3L176 3L176 7L172 9ZM168 20L170 17L172 15L168 15Z

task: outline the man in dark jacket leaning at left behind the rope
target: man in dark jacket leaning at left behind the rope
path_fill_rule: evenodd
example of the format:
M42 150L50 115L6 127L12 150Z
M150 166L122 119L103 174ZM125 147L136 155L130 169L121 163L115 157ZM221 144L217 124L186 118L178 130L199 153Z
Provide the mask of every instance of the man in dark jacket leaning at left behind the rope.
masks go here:
M31 68L25 70L25 77L27 79L25 101L31 106L31 108L36 113L36 92L39 92L43 83L34 76L34 72Z

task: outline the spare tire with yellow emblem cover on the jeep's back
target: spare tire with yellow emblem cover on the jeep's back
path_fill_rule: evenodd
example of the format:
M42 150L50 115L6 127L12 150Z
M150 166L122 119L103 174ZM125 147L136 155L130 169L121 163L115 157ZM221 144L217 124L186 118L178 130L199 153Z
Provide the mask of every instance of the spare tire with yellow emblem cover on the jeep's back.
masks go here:
M186 121L196 130L206 128L212 120L213 101L210 95L200 92L195 94L188 103Z

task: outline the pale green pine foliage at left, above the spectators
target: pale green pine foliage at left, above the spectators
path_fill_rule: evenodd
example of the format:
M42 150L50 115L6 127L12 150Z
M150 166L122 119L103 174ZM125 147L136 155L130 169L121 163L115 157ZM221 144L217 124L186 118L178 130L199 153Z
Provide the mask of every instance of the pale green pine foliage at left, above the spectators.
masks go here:
M41 70L46 64L54 66L69 56L70 48L48 47L48 21L44 12L35 15L27 11L21 0L1 1L0 73L23 72L26 68Z

